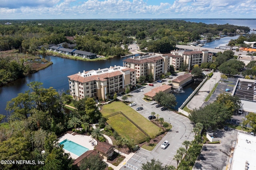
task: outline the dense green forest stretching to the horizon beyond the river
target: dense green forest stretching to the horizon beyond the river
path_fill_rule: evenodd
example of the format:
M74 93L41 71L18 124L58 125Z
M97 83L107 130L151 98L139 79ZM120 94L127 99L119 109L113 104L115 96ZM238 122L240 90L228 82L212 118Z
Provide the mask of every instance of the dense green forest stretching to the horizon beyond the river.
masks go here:
M5 22L12 24L4 25ZM2 20L2 23L1 50L15 48L23 53L33 53L43 44L68 42L65 36L76 36L78 49L119 56L128 52L127 47L123 49L120 45L132 43L131 36L143 45L142 49L164 52L172 50L178 42L198 40L201 34L250 31L245 26L183 20Z

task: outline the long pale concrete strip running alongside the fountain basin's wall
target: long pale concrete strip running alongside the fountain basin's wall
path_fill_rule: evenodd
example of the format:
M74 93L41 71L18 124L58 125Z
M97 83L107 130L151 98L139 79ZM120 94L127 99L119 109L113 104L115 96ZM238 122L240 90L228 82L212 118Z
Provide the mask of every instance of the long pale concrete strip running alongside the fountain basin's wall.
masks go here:
M193 110L203 105L204 100L209 95L210 91L212 91L215 84L220 81L220 75L220 72L213 73L213 76L202 85L196 95L194 95L194 97L188 102L186 105L188 109Z

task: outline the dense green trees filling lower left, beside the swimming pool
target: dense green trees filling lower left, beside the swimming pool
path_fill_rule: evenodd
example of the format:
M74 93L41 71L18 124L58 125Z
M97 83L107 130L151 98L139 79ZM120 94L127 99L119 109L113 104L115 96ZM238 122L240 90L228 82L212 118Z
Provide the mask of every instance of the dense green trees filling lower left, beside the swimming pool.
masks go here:
M44 88L39 82L28 86L30 90L19 93L6 105L8 126L0 125L0 155L2 160L15 163L0 164L0 169L74 169L74 160L64 153L57 138L80 125L93 133L89 123L96 123L102 117L94 99L74 101L77 109L64 114L64 103L72 100L70 95L52 87ZM4 116L0 115L2 119ZM16 164L16 160L36 161L36 164ZM44 163L38 164L38 160Z

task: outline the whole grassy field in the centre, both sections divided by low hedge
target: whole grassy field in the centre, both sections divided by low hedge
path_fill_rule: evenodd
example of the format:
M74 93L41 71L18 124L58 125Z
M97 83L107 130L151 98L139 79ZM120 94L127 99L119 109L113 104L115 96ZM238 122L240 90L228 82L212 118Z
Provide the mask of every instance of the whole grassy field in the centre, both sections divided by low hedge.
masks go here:
M111 114L119 112L119 111L121 111L122 113L124 113L124 115L126 115L128 118L130 118L132 121L134 121L134 123L136 123L140 128L142 128L151 137L158 136L158 134L162 131L161 128L157 127L152 122L148 121L148 119L146 119L145 117L140 115L138 112L134 111L134 109L132 109L130 106L128 106L120 101L112 102L108 105L104 105L102 107L101 113L103 116L107 116L107 115L111 115ZM122 116L122 117L124 117L124 116ZM124 119L126 119L126 118L124 117ZM127 127L127 125L130 124L130 121L126 119L125 124L124 124L124 122L121 122L121 121L124 121L124 119L120 120L120 118L117 119L116 116L113 116L113 118L112 117L108 118L107 123L110 124L113 128L117 127L114 129L117 132L120 131L120 132L118 132L118 134L120 136L122 136L122 135L132 136L132 138L133 138L133 136L135 136L135 135L132 134L130 132L131 129L129 129ZM126 125L126 123L127 123L127 125ZM144 134L143 134L143 136L144 136ZM143 136L141 138L144 138ZM135 139L134 139L134 141L135 141Z

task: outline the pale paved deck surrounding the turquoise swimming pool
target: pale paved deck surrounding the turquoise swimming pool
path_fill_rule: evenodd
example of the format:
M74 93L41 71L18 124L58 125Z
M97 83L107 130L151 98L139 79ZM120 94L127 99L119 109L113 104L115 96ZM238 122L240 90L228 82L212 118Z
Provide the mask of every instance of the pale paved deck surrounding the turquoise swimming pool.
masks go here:
M72 135L69 133L64 134L63 136L61 136L60 138L58 138L58 142L62 142L63 140L71 140L72 142L75 142L77 144L80 144L81 146L84 146L86 148L88 148L89 150L94 150L94 146L96 146L97 141L95 139L92 139L91 136L87 136L87 135L82 135L82 134L76 134L76 135ZM95 143L95 145L92 145L92 142ZM73 159L77 159L79 156L76 154L73 154L72 152L69 152L67 150L64 149L64 151L66 153L69 153L71 158Z

